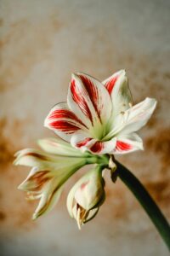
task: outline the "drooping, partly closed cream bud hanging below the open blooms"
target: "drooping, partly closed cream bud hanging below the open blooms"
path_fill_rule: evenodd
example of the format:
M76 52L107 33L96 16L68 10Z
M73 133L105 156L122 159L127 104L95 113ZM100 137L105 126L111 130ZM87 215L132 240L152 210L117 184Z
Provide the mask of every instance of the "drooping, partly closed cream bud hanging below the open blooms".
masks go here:
M82 224L94 218L105 201L104 186L102 166L96 166L72 187L67 197L67 209L71 218L77 220L79 229Z

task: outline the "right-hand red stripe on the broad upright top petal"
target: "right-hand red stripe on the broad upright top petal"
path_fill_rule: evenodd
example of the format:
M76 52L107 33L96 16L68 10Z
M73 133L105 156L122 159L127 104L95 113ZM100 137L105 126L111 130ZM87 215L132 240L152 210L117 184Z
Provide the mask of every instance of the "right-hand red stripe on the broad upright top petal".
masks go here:
M84 84L84 86L88 92L88 96L89 96L91 102L93 103L94 109L100 119L100 109L98 108L98 102L99 102L98 89L94 85L92 80L88 79L87 77L84 77L83 75L80 75L80 78L82 79L82 83Z

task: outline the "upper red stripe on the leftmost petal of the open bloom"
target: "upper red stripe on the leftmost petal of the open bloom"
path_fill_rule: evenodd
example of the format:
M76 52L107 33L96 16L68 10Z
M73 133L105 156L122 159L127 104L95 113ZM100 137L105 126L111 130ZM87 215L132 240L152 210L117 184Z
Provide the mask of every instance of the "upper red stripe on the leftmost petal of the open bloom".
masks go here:
M77 118L75 113L72 113L70 110L67 109L55 109L52 113L50 113L48 119L72 119L87 128L87 126L84 125L82 121Z

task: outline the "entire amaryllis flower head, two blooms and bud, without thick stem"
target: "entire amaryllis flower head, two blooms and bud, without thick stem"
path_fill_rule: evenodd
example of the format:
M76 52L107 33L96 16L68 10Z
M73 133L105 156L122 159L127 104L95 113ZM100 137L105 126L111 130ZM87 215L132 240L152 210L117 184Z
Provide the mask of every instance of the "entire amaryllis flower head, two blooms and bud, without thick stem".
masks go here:
M105 201L102 170L110 169L116 181L113 154L143 149L142 139L135 132L146 124L155 108L156 100L151 98L133 106L124 70L104 82L85 73L72 74L67 103L55 105L44 121L64 140L39 140L42 150L26 148L14 161L15 165L31 166L19 189L27 192L28 199L40 200L33 218L54 207L73 173L87 164L97 164L67 197L68 211L79 228L94 218Z

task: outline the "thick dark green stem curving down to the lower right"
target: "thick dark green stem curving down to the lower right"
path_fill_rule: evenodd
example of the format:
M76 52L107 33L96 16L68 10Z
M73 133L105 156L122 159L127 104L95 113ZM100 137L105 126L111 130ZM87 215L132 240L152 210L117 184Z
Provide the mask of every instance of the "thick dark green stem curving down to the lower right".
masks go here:
M114 161L117 166L117 176L122 179L122 182L127 185L141 206L144 207L144 210L148 213L153 224L155 224L156 229L170 251L170 225L167 223L167 219L163 216L159 207L156 206L156 202L150 197L146 189L144 189L144 186L139 182L139 179L134 177L133 173L128 171L125 166L122 166L116 160Z

